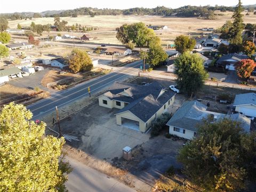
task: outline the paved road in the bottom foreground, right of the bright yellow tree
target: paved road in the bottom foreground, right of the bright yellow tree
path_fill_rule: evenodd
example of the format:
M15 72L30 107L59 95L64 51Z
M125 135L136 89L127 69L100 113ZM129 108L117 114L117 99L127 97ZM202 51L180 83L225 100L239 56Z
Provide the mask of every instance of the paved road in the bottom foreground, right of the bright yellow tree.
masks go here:
M66 187L70 192L135 192L134 189L66 156L73 171L68 175Z

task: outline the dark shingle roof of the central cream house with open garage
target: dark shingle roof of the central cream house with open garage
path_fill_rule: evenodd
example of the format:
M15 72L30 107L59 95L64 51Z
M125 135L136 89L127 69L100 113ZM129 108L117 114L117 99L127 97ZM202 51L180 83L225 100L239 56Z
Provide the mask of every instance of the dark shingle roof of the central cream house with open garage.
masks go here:
M135 116L140 118L143 122L147 122L163 105L169 101L175 92L165 89L163 94L159 93L165 88L158 82L153 82L147 85L135 85L130 83L114 83L113 89L109 90L104 95L111 100L118 100L128 102L125 106L117 112L131 111ZM121 95L122 92L129 94L129 96ZM121 94L120 94L121 93Z

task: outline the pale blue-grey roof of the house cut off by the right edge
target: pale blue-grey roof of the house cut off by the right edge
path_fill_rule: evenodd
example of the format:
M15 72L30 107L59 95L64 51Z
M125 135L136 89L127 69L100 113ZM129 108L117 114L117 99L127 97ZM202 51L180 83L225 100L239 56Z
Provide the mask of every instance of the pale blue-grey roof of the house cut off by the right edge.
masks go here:
M256 93L236 94L233 106L251 104L256 106Z

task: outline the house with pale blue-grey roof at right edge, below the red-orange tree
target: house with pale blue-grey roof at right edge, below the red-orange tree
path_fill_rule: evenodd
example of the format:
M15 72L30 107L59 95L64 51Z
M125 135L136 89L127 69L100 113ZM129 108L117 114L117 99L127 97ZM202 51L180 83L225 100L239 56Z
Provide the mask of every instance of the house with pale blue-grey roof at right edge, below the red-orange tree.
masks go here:
M233 103L234 110L245 116L256 117L256 93L237 94Z

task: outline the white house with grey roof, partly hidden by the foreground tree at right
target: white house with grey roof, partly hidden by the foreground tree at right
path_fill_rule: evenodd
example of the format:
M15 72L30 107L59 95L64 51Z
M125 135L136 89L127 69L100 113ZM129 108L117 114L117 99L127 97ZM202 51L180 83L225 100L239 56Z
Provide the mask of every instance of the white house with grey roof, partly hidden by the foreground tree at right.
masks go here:
M197 129L203 119L211 118L212 122L222 118L231 118L242 124L245 132L250 132L251 120L242 114L221 114L207 111L207 106L199 101L187 101L178 109L166 125L169 133L188 140L197 136Z

